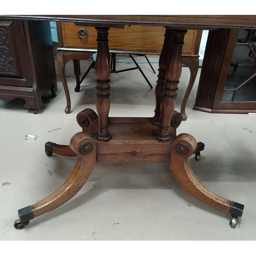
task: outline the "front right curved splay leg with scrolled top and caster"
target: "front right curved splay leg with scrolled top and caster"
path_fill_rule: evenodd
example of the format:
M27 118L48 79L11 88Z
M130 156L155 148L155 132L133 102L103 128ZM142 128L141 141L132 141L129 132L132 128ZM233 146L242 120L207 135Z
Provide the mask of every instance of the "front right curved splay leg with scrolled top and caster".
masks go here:
M211 207L231 214L232 219L237 219L243 214L244 205L220 197L206 188L191 170L188 157L190 157L197 147L195 138L189 134L180 134L172 143L170 150L169 165L180 185L194 198Z

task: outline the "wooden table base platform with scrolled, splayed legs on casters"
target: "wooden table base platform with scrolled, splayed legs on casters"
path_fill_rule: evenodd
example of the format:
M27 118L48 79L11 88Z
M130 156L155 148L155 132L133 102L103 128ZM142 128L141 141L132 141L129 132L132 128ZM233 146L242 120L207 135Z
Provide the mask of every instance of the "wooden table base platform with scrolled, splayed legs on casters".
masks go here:
M77 122L82 132L76 133L70 145L46 143L47 156L54 154L76 157L71 175L52 195L31 206L18 210L17 229L29 221L54 210L73 198L86 183L96 162L168 162L179 184L197 200L231 215L230 226L236 227L244 205L218 196L206 188L191 170L188 158L200 153L202 145L189 134L176 135L182 116L174 112L170 120L168 141L159 141L159 125L152 118L110 117L108 129L110 140L99 140L98 116L91 109L78 113Z

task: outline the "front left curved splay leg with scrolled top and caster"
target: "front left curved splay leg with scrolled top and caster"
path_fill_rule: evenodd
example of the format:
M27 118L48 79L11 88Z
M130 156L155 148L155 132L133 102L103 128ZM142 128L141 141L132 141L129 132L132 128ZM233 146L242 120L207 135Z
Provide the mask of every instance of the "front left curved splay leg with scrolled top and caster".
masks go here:
M67 181L46 199L19 209L19 219L14 223L15 228L23 228L35 217L68 202L86 183L96 163L96 143L91 137L80 132L72 137L70 147L76 153L77 159Z

